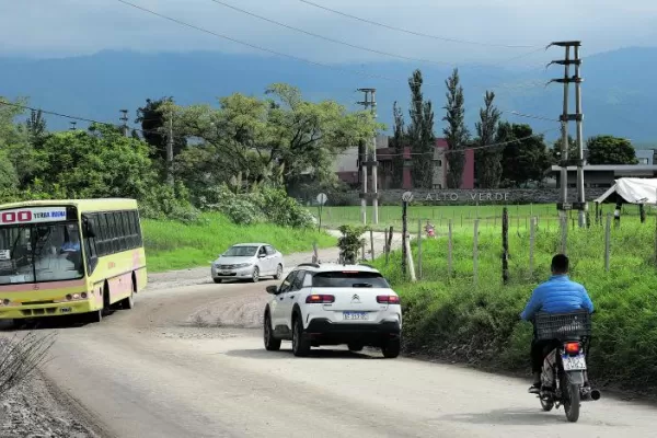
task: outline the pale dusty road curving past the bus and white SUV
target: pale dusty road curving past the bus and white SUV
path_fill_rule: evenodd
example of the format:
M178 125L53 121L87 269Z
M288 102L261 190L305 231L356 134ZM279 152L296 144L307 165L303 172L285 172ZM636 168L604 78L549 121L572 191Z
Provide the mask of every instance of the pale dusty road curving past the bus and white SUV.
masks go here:
M298 262L297 262L298 263ZM543 413L528 382L378 351L289 343L266 351L272 281L153 278L136 307L59 332L45 374L107 437L654 436L655 410L604 397L577 424ZM170 274L161 277L170 276ZM204 284L192 284L192 283Z

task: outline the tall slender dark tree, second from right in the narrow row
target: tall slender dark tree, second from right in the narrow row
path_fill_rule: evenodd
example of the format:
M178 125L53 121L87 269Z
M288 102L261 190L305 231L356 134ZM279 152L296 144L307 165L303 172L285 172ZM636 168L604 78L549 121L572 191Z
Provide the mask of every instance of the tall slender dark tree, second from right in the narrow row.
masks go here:
M449 188L460 188L465 166L463 149L470 141L470 132L465 127L463 87L459 85L459 69L454 69L445 83L447 85L447 105L443 108L447 114L442 119L447 122L447 127L442 129L442 132L448 145L447 185Z

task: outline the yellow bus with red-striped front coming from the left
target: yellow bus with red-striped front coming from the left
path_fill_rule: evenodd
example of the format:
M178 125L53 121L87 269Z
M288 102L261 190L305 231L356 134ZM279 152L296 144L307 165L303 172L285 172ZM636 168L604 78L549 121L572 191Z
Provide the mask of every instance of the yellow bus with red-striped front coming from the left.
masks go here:
M101 322L131 309L146 284L135 199L0 205L0 320L85 314Z

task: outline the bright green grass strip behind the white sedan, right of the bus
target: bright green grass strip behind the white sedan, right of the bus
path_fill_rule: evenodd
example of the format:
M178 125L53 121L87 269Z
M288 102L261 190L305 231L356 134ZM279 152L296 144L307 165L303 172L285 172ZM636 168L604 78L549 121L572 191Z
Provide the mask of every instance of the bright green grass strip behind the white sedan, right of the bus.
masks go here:
M297 230L267 223L237 226L220 214L204 214L198 223L142 220L148 269L152 273L207 266L235 243L265 242L284 254L335 246L337 240L315 230Z

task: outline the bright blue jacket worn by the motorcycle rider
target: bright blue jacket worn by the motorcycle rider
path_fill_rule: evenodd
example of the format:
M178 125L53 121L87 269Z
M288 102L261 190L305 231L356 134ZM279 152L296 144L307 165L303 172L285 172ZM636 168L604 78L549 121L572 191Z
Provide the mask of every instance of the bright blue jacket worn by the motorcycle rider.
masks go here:
M538 312L567 313L581 309L593 312L593 303L585 287L570 281L567 275L553 275L533 290L520 318L531 321Z

